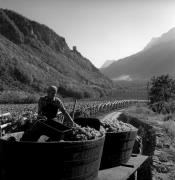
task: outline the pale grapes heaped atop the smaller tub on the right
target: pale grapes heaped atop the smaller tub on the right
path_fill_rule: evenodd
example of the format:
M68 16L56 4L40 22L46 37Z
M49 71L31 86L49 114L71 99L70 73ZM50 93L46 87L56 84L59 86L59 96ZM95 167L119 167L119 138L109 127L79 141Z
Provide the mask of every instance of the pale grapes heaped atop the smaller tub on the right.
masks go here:
M105 119L102 121L102 124L106 132L123 132L123 131L136 130L136 128L131 124L124 123L117 119L112 119L112 120Z

